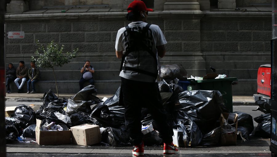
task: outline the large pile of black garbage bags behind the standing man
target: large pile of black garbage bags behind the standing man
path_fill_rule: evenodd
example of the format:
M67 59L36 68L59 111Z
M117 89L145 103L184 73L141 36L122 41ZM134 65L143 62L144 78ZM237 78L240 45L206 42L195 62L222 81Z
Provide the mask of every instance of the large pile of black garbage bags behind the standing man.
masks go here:
M169 71L163 69L162 73L166 74ZM180 74L186 71L175 70L173 73ZM177 137L179 147L219 145L222 132L220 117L223 112L230 112L223 103L221 93L184 91L176 83L174 74L163 78L167 80L159 82L159 90L168 115L167 123L181 132ZM68 129L85 123L98 125L102 130L102 143L113 146L131 145L132 140L125 127L125 108L118 105L119 92L120 87L114 96L102 101L96 96L97 89L92 85L83 88L70 99L59 99L49 90L44 94L43 104L38 111L33 111L26 105L18 105L14 114L6 117L6 139L16 140L21 136L35 138L36 119L39 119L42 120L42 124L54 122ZM141 112L144 144L162 144L155 123L152 123L151 114L147 108L143 108ZM242 132L244 139L248 139L254 129L252 117L245 113L236 113L239 115L238 131Z

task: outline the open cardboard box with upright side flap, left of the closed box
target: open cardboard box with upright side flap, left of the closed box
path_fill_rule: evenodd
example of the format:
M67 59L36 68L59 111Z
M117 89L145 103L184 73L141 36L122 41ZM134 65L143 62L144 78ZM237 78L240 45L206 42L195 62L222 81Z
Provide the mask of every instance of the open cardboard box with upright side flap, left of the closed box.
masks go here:
M37 119L36 142L39 145L70 144L71 131L40 131L41 120Z

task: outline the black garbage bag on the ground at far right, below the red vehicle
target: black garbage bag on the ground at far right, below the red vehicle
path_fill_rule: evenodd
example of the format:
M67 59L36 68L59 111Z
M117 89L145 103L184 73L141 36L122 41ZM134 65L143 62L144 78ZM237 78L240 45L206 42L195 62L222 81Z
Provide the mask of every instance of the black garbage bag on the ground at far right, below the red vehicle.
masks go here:
M255 122L258 123L257 127L251 133L253 136L270 138L270 123L271 114L267 113L254 118Z

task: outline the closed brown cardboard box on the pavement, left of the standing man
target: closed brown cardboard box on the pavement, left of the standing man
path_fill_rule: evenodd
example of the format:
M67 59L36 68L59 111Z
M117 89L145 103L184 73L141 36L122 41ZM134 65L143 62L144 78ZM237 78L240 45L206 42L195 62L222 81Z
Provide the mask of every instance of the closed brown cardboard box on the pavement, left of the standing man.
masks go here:
M82 124L70 127L72 132L71 142L82 146L89 146L101 142L100 127L92 124Z

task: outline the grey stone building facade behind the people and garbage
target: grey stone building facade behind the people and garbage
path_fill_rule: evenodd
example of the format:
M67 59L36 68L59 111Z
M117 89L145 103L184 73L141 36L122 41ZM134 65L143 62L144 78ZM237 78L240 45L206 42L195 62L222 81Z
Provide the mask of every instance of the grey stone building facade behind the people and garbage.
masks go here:
M28 5L7 4L8 31L24 31L24 39L8 39L6 62L17 66L36 50L35 40L51 40L65 45L66 51L79 48L78 57L58 67L56 76L60 93L77 93L80 68L90 60L95 69L98 93L113 94L120 85L120 60L115 56L117 30L126 26L126 8L132 0L21 1ZM18 1L16 1L18 2ZM68 3L65 3L68 2ZM74 3L76 2L76 3ZM167 53L162 64L181 63L188 77L211 73L237 77L235 95L253 95L257 89L257 70L270 64L271 1L235 0L153 0L148 7L155 12L148 22L159 25L167 39ZM18 6L13 10L10 6ZM234 8L235 6L235 8ZM26 9L26 8L25 8ZM55 91L53 71L42 69L37 91Z

